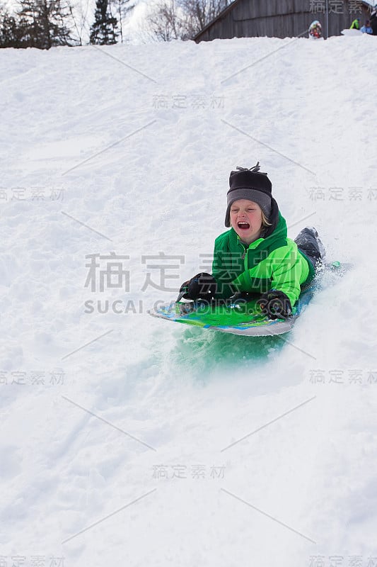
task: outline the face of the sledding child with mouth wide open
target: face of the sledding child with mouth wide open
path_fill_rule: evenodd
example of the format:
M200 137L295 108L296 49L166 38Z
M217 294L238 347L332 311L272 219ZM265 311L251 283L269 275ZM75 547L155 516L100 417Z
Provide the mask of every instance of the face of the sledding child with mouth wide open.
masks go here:
M245 244L251 244L262 232L262 209L254 201L239 199L231 205L231 226Z

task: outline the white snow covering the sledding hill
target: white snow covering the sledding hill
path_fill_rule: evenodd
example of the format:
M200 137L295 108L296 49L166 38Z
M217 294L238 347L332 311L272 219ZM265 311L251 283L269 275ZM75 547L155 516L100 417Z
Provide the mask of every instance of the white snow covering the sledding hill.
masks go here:
M376 50L1 51L2 565L377 564ZM257 160L352 271L283 337L151 318Z

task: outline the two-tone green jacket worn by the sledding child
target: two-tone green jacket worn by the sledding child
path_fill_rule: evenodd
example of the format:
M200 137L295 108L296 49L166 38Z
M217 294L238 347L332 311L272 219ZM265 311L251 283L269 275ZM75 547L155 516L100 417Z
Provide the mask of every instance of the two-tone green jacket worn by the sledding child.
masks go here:
M286 221L277 209L274 227L265 237L249 246L231 228L215 240L212 275L218 296L228 298L236 291L265 293L283 291L291 305L296 303L301 286L315 275L313 264L286 236Z

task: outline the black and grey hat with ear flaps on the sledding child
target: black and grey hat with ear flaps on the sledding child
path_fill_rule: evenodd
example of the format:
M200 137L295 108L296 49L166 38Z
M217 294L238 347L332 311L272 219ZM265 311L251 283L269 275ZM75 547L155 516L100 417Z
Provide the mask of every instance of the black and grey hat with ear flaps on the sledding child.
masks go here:
M265 217L268 219L271 214L272 184L267 177L267 173L259 171L259 162L255 167L246 169L237 167L236 172L231 172L229 176L229 191L226 194L227 207L225 215L225 226L231 226L230 211L231 205L238 199L248 199L260 206Z

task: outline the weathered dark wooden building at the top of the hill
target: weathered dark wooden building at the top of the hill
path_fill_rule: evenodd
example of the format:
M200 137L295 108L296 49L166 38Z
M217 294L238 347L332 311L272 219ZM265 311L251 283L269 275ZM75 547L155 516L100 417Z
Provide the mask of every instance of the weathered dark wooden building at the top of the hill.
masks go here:
M377 1L377 0L376 0ZM327 0L328 35L340 35L354 18L361 26L369 18L371 6L361 0ZM194 40L308 37L313 20L322 24L327 36L326 0L234 0L217 18L202 29Z

